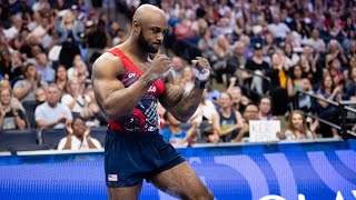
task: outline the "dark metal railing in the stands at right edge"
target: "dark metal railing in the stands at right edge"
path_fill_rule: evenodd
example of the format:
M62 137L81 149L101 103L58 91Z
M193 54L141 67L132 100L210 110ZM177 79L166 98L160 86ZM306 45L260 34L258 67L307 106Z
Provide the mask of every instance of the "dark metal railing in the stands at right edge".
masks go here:
M307 93L307 92L304 92L304 91L298 91L297 92L297 97L298 96L309 96L310 98L313 98L315 100L325 101L325 102L327 102L329 104L333 104L333 106L337 107L339 109L340 126L335 124L335 123L333 123L330 121L327 121L327 120L325 120L325 119L323 119L323 118L320 118L320 117L318 117L316 114L307 113L305 111L303 111L303 112L306 116L320 121L322 123L325 123L325 124L327 124L329 127L333 127L333 128L339 130L344 140L349 139L349 134L356 137L356 132L350 131L350 130L347 129L347 112L349 111L349 112L356 113L356 109L349 107L349 104L350 104L349 101L335 102L335 101L330 101L328 99L319 98L319 97L317 97L315 94Z

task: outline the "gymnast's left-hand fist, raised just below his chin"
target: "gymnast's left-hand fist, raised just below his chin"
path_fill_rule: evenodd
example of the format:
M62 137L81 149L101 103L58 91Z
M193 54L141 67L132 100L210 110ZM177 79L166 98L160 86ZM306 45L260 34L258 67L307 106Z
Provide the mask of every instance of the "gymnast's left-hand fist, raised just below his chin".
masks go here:
M171 67L171 61L166 54L157 54L151 63L149 73L155 80L164 79L169 73Z

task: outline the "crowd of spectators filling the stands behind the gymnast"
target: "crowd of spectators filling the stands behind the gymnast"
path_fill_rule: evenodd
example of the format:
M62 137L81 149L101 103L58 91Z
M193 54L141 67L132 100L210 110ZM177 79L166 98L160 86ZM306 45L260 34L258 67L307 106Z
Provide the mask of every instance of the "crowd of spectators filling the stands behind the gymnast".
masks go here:
M88 127L107 124L92 92L91 66L130 31L130 22L99 9L110 2L8 0L0 4L1 129L71 130L68 123L77 118ZM120 18L131 17L146 3L112 2L122 12ZM195 132L200 132L204 141L239 142L248 137L249 120L285 121L289 131L276 133L281 140L313 139L315 133L339 137L337 129L304 116L314 112L339 124L338 109L298 91L336 102L356 101L353 0L147 2L167 14L165 52L175 53L169 56L176 84L185 92L191 90L194 76L186 63L196 56L207 58L214 70L188 130L160 108L167 140L187 144L199 141ZM304 112L293 112L296 109ZM202 123L211 126L198 131Z

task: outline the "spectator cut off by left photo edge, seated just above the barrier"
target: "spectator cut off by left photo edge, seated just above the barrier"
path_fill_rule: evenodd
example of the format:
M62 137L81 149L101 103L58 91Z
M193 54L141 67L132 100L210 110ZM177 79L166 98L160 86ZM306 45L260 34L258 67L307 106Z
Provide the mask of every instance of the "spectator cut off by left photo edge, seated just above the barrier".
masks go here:
M11 103L12 92L10 88L0 90L0 129L24 129L27 119L23 110Z

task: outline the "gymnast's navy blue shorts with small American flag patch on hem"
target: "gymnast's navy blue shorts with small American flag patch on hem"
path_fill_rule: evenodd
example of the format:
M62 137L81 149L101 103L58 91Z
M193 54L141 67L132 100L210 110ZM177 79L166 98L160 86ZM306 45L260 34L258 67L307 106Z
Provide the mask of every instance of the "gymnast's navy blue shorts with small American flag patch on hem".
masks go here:
M131 187L168 170L185 159L158 132L108 130L105 142L107 187Z

